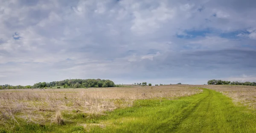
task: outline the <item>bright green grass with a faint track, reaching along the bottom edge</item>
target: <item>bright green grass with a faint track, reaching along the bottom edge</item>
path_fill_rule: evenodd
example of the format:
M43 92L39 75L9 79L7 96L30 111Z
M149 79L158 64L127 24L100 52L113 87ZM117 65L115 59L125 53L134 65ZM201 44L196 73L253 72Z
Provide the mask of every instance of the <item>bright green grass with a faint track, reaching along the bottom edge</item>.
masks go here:
M104 116L66 112L63 117L64 125L23 123L0 133L256 133L255 110L209 89L177 100L136 100L133 107Z

